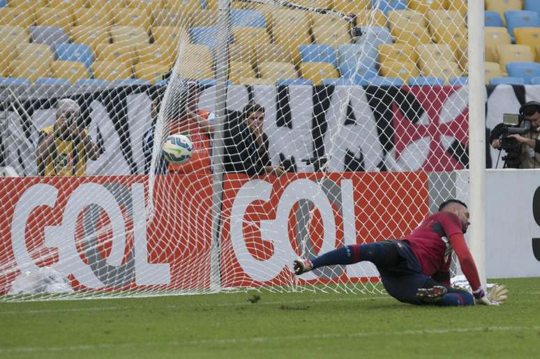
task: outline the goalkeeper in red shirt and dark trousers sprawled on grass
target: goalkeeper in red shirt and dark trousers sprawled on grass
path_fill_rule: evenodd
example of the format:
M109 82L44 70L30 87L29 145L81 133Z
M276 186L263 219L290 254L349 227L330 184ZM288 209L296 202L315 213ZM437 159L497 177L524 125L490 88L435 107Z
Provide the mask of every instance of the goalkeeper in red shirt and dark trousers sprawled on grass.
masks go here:
M469 224L467 206L457 199L449 199L402 240L347 245L314 259L297 259L293 262L294 273L301 275L322 266L370 261L377 266L384 289L401 302L499 305L507 299L508 291L504 286L495 286L486 295L481 287L477 266L463 237ZM452 250L456 252L472 294L450 287Z

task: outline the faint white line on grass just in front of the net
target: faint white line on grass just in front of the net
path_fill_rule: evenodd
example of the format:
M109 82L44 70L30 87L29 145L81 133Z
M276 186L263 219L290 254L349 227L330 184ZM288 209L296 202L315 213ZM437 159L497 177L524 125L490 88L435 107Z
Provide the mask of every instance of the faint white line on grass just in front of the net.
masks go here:
M368 298L343 298L343 299L313 299L313 300L275 300L272 302L265 302L260 300L256 305L281 305L281 304L301 304L301 303L327 303L327 302L363 302L365 300L381 300L392 299L390 296L375 296ZM230 303L200 303L193 305L167 305L167 309L182 309L182 308L200 308L200 307L238 307L240 305L251 305L246 302L230 302ZM130 310L130 309L144 309L145 307L140 305L118 305L110 307L88 307L88 308L62 308L62 309L43 309L43 310L6 310L0 311L0 315L13 315L13 314L44 314L44 313L68 313L68 312L100 312L106 310Z

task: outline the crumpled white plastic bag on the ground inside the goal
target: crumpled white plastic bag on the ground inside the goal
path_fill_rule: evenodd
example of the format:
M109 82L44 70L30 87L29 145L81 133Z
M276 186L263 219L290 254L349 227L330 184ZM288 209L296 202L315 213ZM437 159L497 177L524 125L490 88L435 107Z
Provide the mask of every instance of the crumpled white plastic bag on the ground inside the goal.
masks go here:
M18 275L8 294L73 293L66 275L50 267L27 271Z

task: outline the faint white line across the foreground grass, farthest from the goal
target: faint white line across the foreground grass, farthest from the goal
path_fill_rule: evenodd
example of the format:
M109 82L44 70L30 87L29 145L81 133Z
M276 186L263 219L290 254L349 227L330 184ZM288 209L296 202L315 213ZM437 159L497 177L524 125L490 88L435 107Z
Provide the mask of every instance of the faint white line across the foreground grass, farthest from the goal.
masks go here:
M188 340L184 342L134 342L118 344L97 344L97 345L70 345L70 346L19 346L16 348L0 348L0 354L8 353L35 353L44 351L84 351L100 349L121 349L140 346L186 346L201 344L242 344L242 343L265 343L290 340L308 340L308 339L343 339L373 337L378 335L444 335L449 333L477 333L477 332L515 332L521 330L540 330L540 326L488 326L474 328L427 328L421 330L400 330L393 332L357 332L357 333L327 333L310 335L290 335L278 337L251 337L251 338L227 338L227 339L201 339Z

